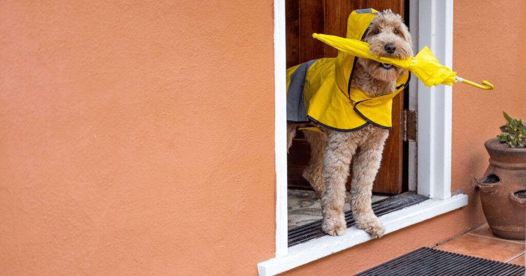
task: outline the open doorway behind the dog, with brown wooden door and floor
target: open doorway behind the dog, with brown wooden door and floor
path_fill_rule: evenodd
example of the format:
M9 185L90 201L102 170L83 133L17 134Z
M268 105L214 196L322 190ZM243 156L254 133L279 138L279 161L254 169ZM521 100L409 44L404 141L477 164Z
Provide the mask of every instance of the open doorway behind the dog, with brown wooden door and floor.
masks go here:
M345 37L347 17L355 9L374 8L378 11L390 8L401 14L409 26L409 3L404 0L355 0L355 1L286 1L286 43L287 67L322 57L336 57L335 48L322 44L312 38L312 33L323 33ZM406 91L407 92L407 91ZM387 201L389 197L400 195L409 190L407 185L407 142L404 146L402 118L404 108L408 106L408 97L400 93L393 99L392 129L386 141L380 170L373 186L373 205ZM416 124L416 122L415 122ZM310 158L310 148L301 131L292 143L288 155L288 229L295 231L321 220L321 203L302 172ZM352 165L351 165L352 166ZM351 170L352 171L352 170ZM346 188L350 189L352 175ZM397 198L404 198L398 196ZM349 194L344 210L350 209ZM420 199L418 199L420 200ZM290 243L289 243L290 244Z

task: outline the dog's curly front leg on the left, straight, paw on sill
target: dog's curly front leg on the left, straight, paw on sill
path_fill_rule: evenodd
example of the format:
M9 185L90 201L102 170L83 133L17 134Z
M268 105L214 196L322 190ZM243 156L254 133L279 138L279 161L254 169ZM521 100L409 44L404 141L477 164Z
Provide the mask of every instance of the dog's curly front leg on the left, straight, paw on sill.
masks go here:
M325 189L321 195L323 213L322 230L331 236L341 236L347 229L343 214L345 182L349 176L349 164L357 144L350 141L350 132L327 131L323 181Z

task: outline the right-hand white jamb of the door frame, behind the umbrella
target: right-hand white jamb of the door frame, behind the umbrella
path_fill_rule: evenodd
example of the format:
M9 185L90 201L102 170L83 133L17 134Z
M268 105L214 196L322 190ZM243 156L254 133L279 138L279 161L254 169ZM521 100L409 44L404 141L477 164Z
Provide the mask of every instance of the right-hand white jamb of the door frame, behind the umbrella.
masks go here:
M453 0L418 1L418 48L428 46L437 59L453 66ZM451 86L418 81L418 193L451 197Z

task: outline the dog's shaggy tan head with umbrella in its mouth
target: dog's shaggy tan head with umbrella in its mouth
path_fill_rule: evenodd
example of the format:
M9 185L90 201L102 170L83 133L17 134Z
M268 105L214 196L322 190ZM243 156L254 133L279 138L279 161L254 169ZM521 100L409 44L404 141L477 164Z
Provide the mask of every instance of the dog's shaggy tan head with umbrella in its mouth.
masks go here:
M363 39L372 54L382 57L407 58L413 56L411 34L399 14L390 9L373 19ZM358 58L358 63L376 79L394 81L404 73L403 69L372 59Z

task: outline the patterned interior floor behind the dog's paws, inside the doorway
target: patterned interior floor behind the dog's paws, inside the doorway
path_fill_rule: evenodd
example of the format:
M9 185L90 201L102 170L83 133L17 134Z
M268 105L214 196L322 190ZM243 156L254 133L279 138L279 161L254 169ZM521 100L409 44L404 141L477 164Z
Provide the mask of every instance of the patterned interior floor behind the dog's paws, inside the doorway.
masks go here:
M347 191L347 197L343 211L350 210L349 205L350 193ZM373 195L372 202L376 202L388 196ZM322 219L321 201L316 193L312 190L288 189L288 229L302 226L306 223Z

